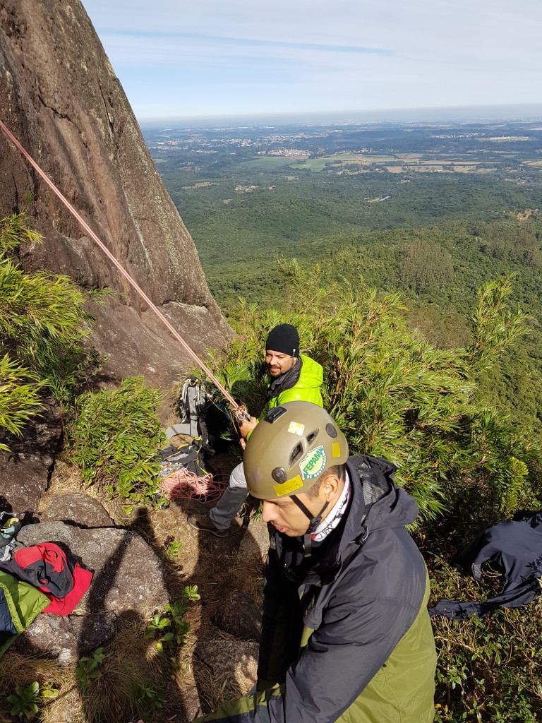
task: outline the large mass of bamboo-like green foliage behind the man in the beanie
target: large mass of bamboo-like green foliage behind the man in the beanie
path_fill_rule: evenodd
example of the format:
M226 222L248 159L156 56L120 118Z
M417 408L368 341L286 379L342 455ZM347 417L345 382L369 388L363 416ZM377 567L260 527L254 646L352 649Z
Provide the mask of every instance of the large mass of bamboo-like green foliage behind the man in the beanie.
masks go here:
M533 500L541 480L538 444L473 403L480 370L523 333L525 315L506 307L509 279L481 289L473 343L442 350L408 330L399 296L362 282L322 289L318 268L302 270L295 261L282 267L290 286L281 312L241 300L233 320L238 337L224 357L212 359L252 414L265 401L257 375L265 338L288 322L299 330L302 353L324 367L324 404L350 453L394 462L396 480L416 497L422 518L468 505L463 522L470 527L476 515L491 522Z

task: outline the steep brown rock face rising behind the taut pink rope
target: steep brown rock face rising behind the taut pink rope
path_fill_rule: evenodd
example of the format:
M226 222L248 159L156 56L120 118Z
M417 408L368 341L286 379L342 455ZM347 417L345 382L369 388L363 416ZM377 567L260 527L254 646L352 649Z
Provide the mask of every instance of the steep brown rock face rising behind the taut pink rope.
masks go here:
M79 0L3 0L0 79L1 119L106 247L194 351L222 345L231 329ZM21 249L24 268L123 292L93 309L104 371L169 384L186 369L178 343L0 131L0 217L29 191L46 241Z

